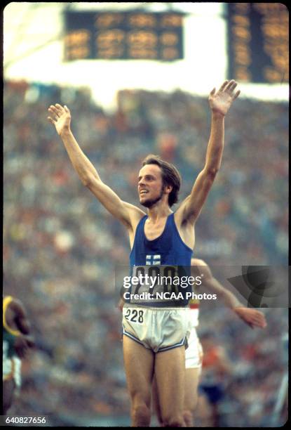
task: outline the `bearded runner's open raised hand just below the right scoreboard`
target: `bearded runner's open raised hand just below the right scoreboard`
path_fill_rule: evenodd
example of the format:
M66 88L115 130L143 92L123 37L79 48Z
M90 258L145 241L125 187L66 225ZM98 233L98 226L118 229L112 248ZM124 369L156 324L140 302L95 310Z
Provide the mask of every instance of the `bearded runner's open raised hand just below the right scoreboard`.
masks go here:
M215 92L215 88L212 89L208 98L212 112L226 115L233 101L241 93L240 90L234 91L237 85L237 82L232 79L231 81L224 81L217 92Z

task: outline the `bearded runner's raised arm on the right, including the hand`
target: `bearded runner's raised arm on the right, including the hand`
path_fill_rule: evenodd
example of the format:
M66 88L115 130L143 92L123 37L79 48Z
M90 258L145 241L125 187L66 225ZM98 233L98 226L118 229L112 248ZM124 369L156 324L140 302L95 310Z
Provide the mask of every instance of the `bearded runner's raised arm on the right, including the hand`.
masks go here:
M234 80L225 81L218 91L212 89L208 98L212 116L205 165L196 178L191 194L178 209L182 214L182 222L195 223L219 170L224 148L224 117L241 92L235 91L236 86Z

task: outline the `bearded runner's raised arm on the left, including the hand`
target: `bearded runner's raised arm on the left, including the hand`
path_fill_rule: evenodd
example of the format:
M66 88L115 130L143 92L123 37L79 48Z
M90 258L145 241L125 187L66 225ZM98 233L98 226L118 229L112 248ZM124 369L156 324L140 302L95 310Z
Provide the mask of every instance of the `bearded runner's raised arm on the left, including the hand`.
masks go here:
M48 120L55 126L62 142L65 145L69 159L83 185L97 197L101 204L119 221L128 228L133 228L144 213L133 206L123 202L108 185L104 184L93 164L79 147L71 130L71 113L68 107L59 104L50 105Z

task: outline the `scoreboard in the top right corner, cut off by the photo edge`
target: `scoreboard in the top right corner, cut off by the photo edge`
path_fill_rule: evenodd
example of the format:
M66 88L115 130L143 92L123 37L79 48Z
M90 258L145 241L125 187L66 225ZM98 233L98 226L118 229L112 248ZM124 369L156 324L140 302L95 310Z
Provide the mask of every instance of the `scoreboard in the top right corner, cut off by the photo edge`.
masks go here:
M282 3L229 3L229 79L289 81L289 12Z

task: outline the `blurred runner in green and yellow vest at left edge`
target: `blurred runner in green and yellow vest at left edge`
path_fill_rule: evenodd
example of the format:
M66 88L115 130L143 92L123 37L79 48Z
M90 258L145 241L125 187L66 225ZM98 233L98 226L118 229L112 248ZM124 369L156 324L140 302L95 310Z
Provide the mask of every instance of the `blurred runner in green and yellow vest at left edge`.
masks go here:
M21 385L21 359L27 356L34 341L30 324L20 300L3 297L3 415L13 403Z

